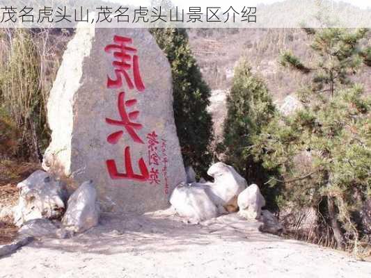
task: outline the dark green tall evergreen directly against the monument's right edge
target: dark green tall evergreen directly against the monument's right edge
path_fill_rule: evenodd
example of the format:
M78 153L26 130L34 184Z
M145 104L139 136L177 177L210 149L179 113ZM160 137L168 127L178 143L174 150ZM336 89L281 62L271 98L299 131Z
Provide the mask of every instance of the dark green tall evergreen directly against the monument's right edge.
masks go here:
M205 174L212 156L212 117L207 113L210 89L189 48L182 28L154 28L152 35L166 54L173 74L174 117L185 165Z

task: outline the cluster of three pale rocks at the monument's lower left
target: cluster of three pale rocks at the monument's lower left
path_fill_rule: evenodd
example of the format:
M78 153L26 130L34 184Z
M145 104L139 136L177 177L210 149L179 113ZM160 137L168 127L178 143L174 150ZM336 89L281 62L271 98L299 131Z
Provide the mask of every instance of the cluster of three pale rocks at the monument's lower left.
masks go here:
M40 170L17 187L14 220L22 236L65 238L98 224L100 208L92 181L81 184L70 198L61 181Z

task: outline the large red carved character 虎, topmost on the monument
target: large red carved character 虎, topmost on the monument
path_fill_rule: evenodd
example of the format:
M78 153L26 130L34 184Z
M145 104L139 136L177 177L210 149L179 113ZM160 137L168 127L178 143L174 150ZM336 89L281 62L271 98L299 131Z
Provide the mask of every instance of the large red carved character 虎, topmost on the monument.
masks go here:
M115 79L111 79L107 76L107 88L121 88L123 85L123 76L127 83L127 87L132 90L134 85L136 90L143 92L145 90L145 85L143 84L141 78L141 72L139 70L139 56L136 54L136 49L134 47L129 47L128 44L132 44L131 38L121 37L120 35L115 35L113 37L114 44L109 44L104 48L106 53L112 53L116 60L113 61L112 65L115 68ZM129 75L129 70L132 70L132 78Z

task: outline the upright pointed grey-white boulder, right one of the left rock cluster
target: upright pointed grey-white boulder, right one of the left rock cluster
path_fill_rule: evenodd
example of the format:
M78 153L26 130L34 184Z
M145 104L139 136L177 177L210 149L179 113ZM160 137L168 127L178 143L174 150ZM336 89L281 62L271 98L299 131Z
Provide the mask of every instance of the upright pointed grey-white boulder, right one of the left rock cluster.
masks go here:
M100 207L93 181L85 181L68 199L62 219L66 231L84 232L98 224Z

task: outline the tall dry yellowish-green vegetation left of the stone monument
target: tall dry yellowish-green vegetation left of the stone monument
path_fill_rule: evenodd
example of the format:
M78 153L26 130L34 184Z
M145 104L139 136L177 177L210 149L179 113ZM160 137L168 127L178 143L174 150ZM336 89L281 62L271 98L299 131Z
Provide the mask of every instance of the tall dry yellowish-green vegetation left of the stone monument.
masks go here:
M56 28L0 31L0 123L3 118L19 133L14 142L0 130L0 142L13 144L18 158L40 161L49 144L47 99L71 34Z

